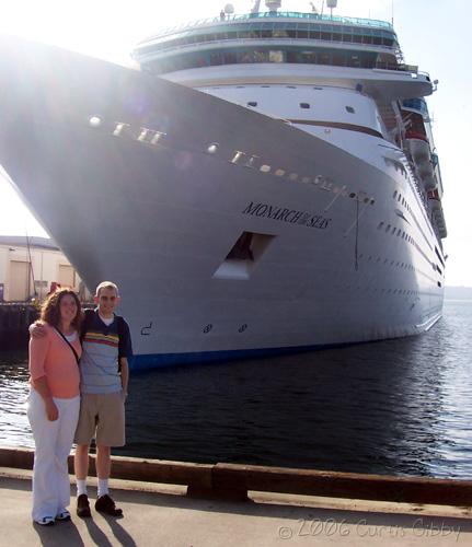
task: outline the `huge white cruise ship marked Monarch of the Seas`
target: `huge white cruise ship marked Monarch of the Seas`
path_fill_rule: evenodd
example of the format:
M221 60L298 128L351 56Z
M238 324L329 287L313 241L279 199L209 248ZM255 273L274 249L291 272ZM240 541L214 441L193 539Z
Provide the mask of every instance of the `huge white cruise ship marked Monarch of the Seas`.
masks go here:
M118 283L135 369L441 317L437 82L335 3L227 5L139 43L136 68L1 38L0 164L88 287Z

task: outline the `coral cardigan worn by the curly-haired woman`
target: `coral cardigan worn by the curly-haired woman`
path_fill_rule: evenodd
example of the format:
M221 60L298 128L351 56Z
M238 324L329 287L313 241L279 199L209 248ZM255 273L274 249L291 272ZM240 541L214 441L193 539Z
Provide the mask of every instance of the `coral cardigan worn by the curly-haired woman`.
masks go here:
M30 382L46 376L53 397L70 399L79 395L80 372L76 357L66 340L50 325L45 324L46 336L30 338ZM82 354L79 334L71 342L77 354Z

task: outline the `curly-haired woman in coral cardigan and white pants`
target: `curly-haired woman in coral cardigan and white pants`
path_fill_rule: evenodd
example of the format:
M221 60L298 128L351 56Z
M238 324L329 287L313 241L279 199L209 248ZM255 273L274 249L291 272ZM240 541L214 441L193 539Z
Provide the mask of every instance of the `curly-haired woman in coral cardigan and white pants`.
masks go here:
M46 336L30 339L31 394L27 417L35 442L33 521L67 521L70 484L67 457L79 419L82 313L77 294L60 289L43 305Z

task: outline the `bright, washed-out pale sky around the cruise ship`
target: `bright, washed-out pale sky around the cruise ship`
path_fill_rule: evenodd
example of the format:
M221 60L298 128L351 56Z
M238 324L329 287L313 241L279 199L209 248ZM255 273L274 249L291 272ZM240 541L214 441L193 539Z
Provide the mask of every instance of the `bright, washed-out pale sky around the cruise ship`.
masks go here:
M14 34L130 66L130 51L158 30L217 16L228 2L218 0L3 0L0 33ZM234 13L247 13L253 1L234 0ZM285 11L311 11L309 1L284 0ZM312 2L319 11L324 0ZM264 0L261 2L264 5ZM325 13L329 12L324 8ZM468 0L338 0L337 15L392 21L405 61L439 80L428 98L434 120L448 229L448 286L472 287L472 185L469 142L472 136L471 49L468 43L472 3ZM0 105L1 107L1 105ZM47 235L0 176L0 235Z

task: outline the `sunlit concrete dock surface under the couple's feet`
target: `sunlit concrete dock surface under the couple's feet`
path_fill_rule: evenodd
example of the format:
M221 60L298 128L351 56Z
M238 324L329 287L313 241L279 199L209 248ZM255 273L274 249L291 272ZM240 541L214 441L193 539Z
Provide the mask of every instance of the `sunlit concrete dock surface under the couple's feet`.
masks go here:
M71 476L73 482L73 477ZM94 479L89 490L95 497ZM113 479L124 516L31 521L31 470L0 467L0 545L251 546L472 545L472 509L249 492L249 501L195 499L186 487Z

